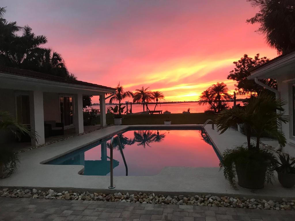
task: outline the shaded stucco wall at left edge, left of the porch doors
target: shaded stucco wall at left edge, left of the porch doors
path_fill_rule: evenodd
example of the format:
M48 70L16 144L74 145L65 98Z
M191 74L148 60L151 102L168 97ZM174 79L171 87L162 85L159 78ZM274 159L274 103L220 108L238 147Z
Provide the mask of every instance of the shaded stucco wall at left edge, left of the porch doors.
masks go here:
M0 88L0 110L8 111L15 116L14 90ZM14 140L12 133L0 131L0 144Z

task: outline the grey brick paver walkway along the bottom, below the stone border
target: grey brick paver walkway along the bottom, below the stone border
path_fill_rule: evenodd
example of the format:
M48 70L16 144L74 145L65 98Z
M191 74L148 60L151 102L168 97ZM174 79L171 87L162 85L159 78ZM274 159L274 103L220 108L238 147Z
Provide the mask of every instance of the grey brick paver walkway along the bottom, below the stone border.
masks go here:
M1 197L0 221L4 220L294 221L295 211Z

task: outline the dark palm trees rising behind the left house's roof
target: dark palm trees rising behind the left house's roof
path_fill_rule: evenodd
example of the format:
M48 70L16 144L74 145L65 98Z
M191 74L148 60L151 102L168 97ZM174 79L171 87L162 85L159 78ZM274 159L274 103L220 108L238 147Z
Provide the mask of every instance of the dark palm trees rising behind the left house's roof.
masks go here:
M76 80L68 72L62 56L50 48L44 35L35 35L32 28L17 26L17 22L4 19L5 8L0 7L0 65L38 71ZM22 31L22 35L17 33Z

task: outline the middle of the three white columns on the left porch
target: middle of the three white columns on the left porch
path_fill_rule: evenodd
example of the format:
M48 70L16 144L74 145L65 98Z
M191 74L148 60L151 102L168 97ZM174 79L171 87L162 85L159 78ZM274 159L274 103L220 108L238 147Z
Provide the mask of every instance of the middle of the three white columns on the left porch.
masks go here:
M75 121L76 133L84 133L82 94L74 95L74 106L75 106L74 121Z

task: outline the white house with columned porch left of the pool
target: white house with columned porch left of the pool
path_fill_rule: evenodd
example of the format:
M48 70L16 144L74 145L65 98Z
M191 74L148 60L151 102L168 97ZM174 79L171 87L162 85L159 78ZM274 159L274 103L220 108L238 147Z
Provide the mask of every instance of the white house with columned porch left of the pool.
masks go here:
M40 72L0 66L0 109L19 123L30 124L39 137L32 145L44 144L44 121L63 123L83 133L83 95L99 95L101 126L106 126L105 95L115 88L69 80ZM0 137L4 142L5 136Z

